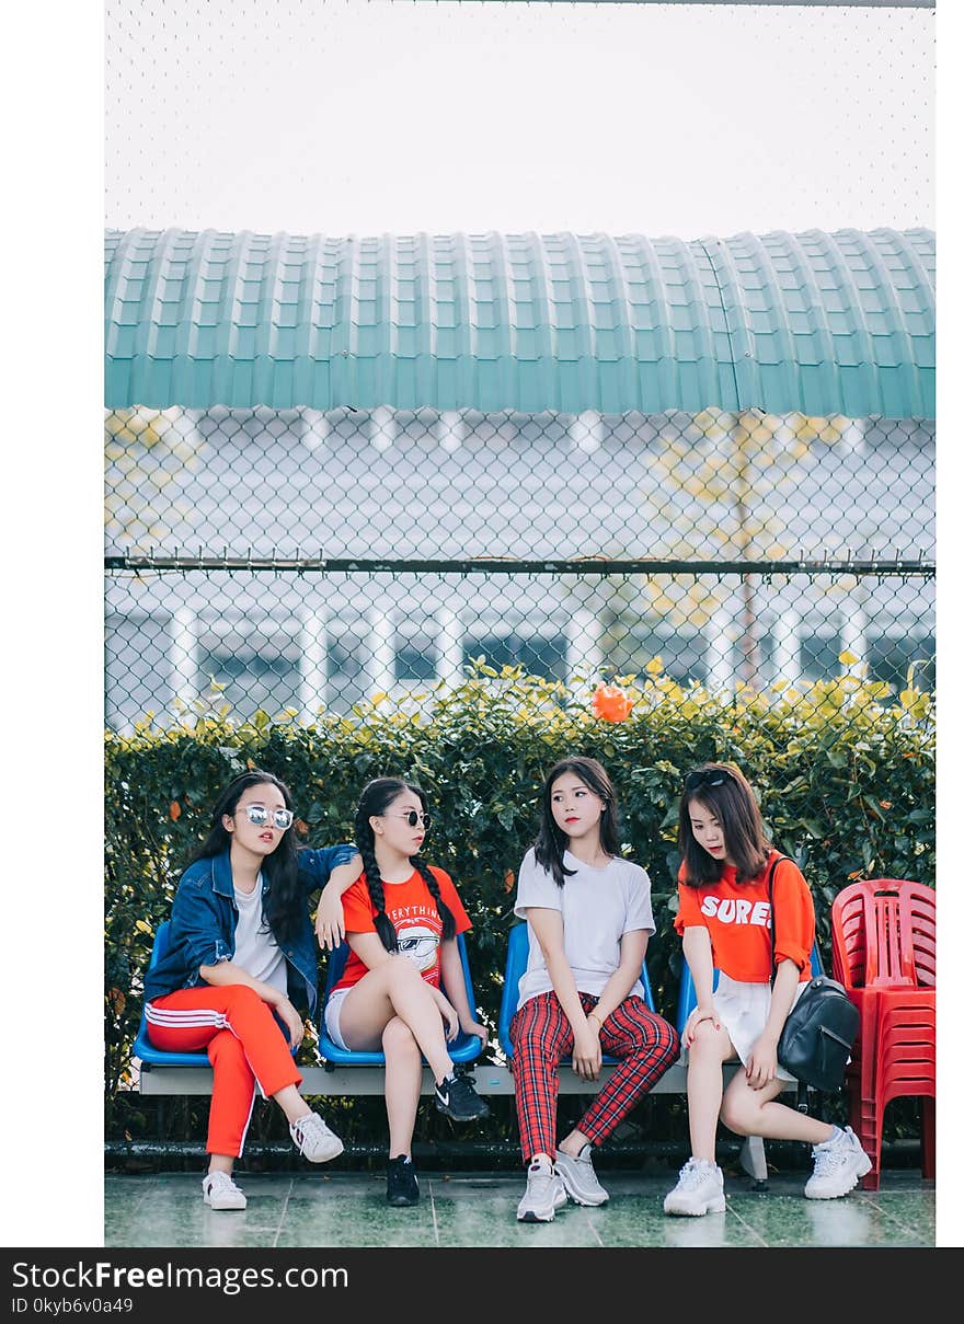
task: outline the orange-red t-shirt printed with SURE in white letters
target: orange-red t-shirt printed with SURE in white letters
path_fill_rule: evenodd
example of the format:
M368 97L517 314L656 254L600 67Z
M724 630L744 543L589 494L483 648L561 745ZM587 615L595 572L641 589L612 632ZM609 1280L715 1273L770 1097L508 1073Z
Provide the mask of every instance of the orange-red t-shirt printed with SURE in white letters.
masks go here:
M769 984L773 955L767 879L776 854L771 851L756 878L746 883L738 883L735 867L726 865L718 883L690 887L685 882L686 865L679 866L679 910L674 928L681 936L695 924L708 929L712 964L731 980ZM809 980L816 932L813 896L806 879L787 857L773 874L773 906L777 914L776 960L793 961L800 980Z

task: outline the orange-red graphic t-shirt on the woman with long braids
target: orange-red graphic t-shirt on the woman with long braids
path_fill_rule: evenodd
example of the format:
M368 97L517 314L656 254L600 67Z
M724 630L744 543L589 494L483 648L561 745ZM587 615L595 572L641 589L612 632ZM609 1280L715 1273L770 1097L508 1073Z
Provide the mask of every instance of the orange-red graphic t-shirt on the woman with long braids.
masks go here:
M471 920L465 912L465 907L458 899L456 884L444 869L429 865L429 871L438 882L438 894L452 911L456 920L456 932L465 933L471 928ZM428 890L425 879L418 870L413 870L410 878L404 883L383 883L385 892L385 915L395 925L399 935L399 952L407 956L421 970L421 976L429 984L438 988L440 959L438 948L442 941L442 918L438 914L432 892ZM368 895L365 875L356 878L351 887L342 896L344 910L346 933L375 933L375 907ZM342 978L335 984L336 989L347 989L368 973L365 963L348 951Z

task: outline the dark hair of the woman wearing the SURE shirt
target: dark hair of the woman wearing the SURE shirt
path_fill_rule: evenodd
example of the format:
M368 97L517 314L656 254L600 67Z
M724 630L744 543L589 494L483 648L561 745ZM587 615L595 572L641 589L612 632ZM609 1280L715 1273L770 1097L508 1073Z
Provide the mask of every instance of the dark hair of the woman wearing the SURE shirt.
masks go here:
M763 828L753 789L732 763L704 763L687 773L679 797L679 854L690 887L718 883L726 865L703 850L693 835L690 802L698 800L720 825L727 857L736 865L736 882L748 883L764 869L771 842Z

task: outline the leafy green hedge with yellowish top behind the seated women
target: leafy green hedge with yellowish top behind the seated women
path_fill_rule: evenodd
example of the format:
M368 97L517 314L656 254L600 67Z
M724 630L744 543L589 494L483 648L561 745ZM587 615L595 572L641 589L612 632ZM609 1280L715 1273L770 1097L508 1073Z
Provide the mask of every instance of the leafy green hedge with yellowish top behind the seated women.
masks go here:
M556 683L485 665L437 696L430 719L376 698L351 718L311 726L189 716L128 736L106 736L106 1107L107 1136L130 1086L142 974L154 932L171 908L179 873L203 835L220 788L264 767L293 789L298 830L310 845L350 839L365 781L418 781L433 825L425 857L446 869L473 919L475 993L495 1026L515 871L536 831L539 788L568 753L591 755L620 794L625 854L653 884L657 933L648 964L657 1006L675 1018L681 947L675 911L675 818L683 773L708 759L739 764L753 784L775 843L795 857L813 890L829 967L829 907L855 878L935 883L934 704L908 688L841 677L805 691L724 702L682 690L657 663L638 682L618 678L633 707L622 722ZM303 1061L313 1057L309 1037ZM123 1112L123 1110L120 1110Z

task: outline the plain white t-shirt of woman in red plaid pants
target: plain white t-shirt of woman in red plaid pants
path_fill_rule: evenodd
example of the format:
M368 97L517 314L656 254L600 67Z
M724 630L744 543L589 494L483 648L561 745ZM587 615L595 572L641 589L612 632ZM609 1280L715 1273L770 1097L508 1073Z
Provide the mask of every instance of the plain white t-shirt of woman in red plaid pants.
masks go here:
M528 906L561 911L565 959L576 988L599 997L620 964L622 935L638 928L655 933L649 874L628 859L610 859L604 869L593 869L568 850L563 863L576 873L567 874L565 886L557 887L552 874L536 863L535 850L528 850L519 869L514 910L520 919L526 919ZM528 924L528 964L519 980L519 1006L551 989L546 957ZM640 980L629 992L644 996Z

